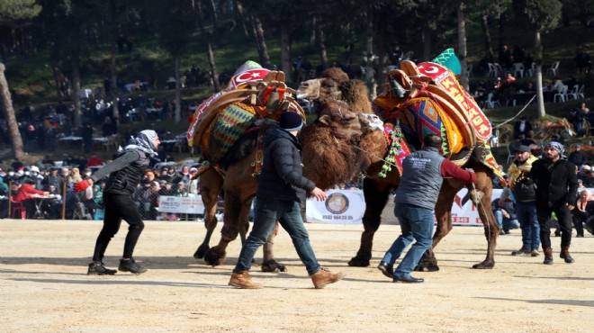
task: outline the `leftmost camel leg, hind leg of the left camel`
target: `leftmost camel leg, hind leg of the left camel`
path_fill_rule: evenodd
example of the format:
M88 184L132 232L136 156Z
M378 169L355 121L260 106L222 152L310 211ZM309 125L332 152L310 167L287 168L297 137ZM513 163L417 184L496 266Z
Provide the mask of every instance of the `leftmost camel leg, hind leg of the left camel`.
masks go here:
M206 236L204 236L202 244L193 254L193 257L196 259L202 259L206 251L210 248L211 236L217 227L217 217L215 214L217 212L217 198L219 197L222 182L222 176L212 168L204 171L201 175L200 195L202 196L202 202L204 202L204 227L206 228Z

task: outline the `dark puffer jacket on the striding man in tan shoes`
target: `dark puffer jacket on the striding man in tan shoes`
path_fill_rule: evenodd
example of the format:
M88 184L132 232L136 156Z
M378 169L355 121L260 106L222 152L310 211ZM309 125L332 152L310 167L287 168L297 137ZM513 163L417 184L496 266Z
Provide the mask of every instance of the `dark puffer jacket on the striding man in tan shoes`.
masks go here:
M279 128L266 131L264 161L256 195L305 202L316 185L303 176L302 146L293 134Z

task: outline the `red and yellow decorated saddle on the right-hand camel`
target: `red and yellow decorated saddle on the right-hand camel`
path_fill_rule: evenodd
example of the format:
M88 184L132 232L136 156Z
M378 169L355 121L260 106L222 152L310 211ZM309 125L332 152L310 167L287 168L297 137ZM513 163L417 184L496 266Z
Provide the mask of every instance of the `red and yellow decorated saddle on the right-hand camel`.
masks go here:
M443 61L443 55L433 61ZM457 165L464 165L473 150L480 148L482 163L501 176L488 143L491 122L448 67L404 60L401 69L388 73L383 93L372 104L388 126L401 130L406 139L398 142L404 146L401 151L408 151L407 144L419 149L423 138L435 133L443 139L443 155ZM398 155L398 159L403 157Z

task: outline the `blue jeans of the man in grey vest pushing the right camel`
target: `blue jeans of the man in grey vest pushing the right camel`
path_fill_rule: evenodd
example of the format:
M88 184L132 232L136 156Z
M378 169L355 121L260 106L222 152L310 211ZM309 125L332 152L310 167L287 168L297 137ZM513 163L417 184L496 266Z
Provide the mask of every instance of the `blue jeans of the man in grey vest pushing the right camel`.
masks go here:
M409 252L402 258L401 265L394 270L394 277L410 277L410 272L419 264L420 258L433 243L434 213L428 208L397 202L394 215L401 224L402 234L394 240L382 261L393 265L396 259L401 257L404 249L409 247L413 239L416 239Z

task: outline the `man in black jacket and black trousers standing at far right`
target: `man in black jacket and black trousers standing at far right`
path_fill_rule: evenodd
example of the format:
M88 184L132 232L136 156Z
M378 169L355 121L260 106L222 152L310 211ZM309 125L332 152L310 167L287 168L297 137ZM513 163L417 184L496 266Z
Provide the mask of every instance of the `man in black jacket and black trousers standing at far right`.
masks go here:
M545 265L553 264L551 248L551 213L554 211L562 230L561 255L566 263L574 262L569 253L572 243L572 213L576 204L578 178L576 166L563 159L563 145L551 141L546 144L544 158L537 160L530 170L536 183L536 215L540 224L540 240L545 252Z

